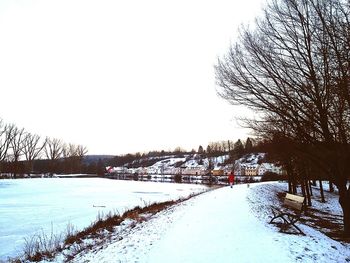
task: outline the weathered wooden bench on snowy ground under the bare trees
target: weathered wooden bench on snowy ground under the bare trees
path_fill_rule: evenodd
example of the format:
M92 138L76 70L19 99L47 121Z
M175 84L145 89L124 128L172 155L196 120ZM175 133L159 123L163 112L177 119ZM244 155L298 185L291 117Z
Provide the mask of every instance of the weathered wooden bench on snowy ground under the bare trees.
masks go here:
M300 220L301 212L303 210L303 204L305 201L305 197L299 196L299 195L293 195L287 193L283 205L286 208L292 208L292 210L284 210L284 209L278 209L276 207L271 207L273 218L270 221L270 224L272 224L276 219L281 219L283 222L281 224L281 231L286 232L286 230L293 226L295 229L299 231L300 234L305 235L301 229L295 225L296 222Z

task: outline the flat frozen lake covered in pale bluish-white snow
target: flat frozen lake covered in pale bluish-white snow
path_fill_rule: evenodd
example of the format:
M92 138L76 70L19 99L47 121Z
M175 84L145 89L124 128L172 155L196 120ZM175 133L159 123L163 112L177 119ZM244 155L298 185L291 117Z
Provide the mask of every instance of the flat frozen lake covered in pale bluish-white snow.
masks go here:
M90 225L98 213L123 213L137 205L174 200L204 185L102 178L0 180L0 261L21 252L24 238Z

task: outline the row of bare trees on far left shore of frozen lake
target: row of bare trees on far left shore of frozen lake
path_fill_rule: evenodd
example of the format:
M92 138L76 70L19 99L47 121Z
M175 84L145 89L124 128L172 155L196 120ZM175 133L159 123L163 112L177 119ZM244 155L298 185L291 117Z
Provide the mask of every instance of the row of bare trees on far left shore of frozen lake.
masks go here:
M0 119L0 174L16 178L30 173L81 173L87 169L86 153L85 146L43 138Z

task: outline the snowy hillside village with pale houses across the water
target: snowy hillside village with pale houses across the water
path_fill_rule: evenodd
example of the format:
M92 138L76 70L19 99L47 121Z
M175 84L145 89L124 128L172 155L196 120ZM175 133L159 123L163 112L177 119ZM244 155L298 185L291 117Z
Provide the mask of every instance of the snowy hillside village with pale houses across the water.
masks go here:
M200 154L186 154L183 156L166 156L161 160L154 160L150 166L128 168L106 167L108 175L131 174L131 175L192 175L192 176L224 176L234 171L236 176L263 176L267 172L278 175L283 174L280 166L273 163L263 162L265 153L250 153L242 158L230 162L229 155L202 158Z

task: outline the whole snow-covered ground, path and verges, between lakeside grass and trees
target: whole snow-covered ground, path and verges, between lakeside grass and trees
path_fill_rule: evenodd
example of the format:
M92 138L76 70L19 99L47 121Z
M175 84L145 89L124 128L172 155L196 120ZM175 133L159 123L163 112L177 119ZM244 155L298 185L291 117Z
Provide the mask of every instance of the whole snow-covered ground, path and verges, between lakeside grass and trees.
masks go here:
M350 262L349 244L304 224L299 226L306 236L280 233L268 224L275 193L286 188L259 183L204 193L142 223L125 222L105 244L73 262ZM330 212L340 213L339 205L329 204Z

